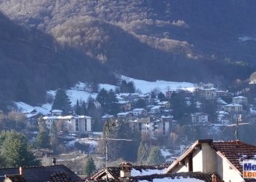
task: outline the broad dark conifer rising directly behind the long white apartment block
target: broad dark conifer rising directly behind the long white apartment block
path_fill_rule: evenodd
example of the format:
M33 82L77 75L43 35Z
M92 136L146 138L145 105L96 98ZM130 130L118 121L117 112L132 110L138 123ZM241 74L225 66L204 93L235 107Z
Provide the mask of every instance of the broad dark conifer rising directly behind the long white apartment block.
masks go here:
M52 109L59 109L63 112L63 114L69 114L72 111L71 102L69 100L69 97L67 96L67 93L64 90L56 90Z

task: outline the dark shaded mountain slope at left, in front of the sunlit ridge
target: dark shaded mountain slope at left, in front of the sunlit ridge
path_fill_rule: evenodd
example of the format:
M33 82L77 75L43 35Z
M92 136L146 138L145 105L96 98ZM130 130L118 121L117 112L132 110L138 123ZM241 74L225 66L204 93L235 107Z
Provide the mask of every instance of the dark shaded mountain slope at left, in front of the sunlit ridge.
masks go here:
M109 68L52 36L12 23L0 13L0 98L42 103L46 90L82 82L116 83Z

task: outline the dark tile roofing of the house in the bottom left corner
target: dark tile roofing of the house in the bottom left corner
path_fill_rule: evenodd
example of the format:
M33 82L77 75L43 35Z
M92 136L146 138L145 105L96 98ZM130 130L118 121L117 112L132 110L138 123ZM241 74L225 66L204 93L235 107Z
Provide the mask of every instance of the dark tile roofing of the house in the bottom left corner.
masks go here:
M58 173L65 173L72 181L81 181L81 178L64 165L22 167L23 177L28 182L52 181L51 175L57 177ZM4 181L4 175L16 175L19 167L0 168L0 181Z

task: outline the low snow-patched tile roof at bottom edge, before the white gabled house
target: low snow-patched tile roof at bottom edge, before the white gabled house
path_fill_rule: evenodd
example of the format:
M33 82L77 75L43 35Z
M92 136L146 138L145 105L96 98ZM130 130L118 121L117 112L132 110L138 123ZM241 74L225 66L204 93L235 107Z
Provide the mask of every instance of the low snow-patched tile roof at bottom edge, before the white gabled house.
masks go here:
M196 178L202 181L206 182L212 182L211 175L212 173L201 173L201 172L189 172L189 173L173 173L173 174L165 174L165 175L142 175L142 176L135 176L135 177L130 177L129 181L153 181L153 179L162 179L162 178ZM219 177L219 175L214 174L217 177L217 182L222 182L222 178Z

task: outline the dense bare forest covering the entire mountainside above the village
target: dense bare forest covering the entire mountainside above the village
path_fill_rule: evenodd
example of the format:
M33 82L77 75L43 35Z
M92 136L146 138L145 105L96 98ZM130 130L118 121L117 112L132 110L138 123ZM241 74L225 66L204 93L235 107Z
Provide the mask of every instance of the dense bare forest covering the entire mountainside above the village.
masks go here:
M12 90L27 85L35 98L78 80L115 82L104 74L110 71L146 80L245 80L256 65L255 7L233 0L3 0L0 11L14 23L1 15L0 86L15 98Z

